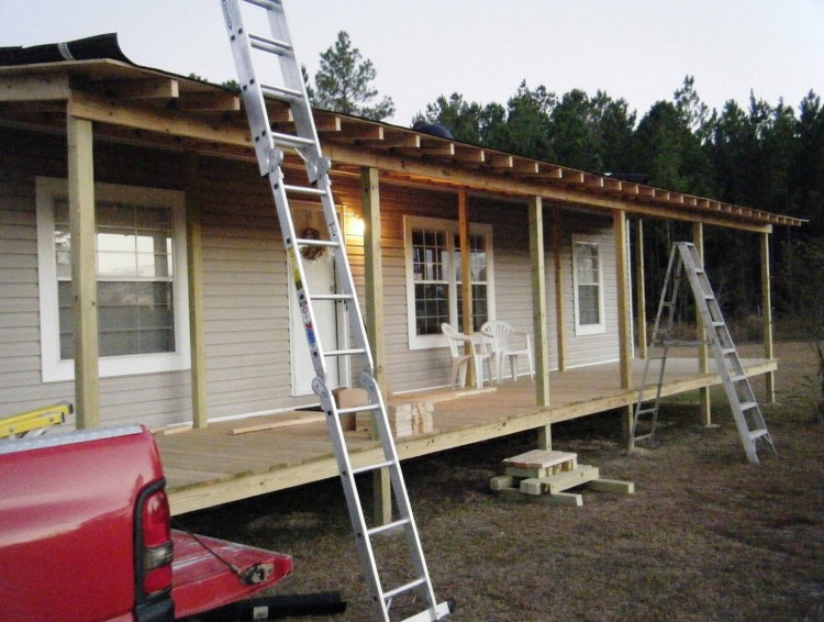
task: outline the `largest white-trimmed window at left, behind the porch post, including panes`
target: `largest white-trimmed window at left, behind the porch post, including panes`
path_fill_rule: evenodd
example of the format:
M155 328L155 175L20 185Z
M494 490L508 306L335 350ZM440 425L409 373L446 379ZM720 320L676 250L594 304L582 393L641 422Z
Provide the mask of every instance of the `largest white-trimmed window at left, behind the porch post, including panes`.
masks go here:
M43 380L74 377L68 185L37 178ZM94 186L101 376L189 367L183 193Z

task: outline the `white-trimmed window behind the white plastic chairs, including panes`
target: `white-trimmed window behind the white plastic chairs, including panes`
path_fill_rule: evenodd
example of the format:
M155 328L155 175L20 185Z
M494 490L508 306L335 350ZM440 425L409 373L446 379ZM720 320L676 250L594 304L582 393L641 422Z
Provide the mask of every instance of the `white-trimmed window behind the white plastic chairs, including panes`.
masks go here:
M443 345L441 324L463 329L460 236L454 221L404 218L409 345L412 349ZM472 327L493 319L492 227L470 225Z

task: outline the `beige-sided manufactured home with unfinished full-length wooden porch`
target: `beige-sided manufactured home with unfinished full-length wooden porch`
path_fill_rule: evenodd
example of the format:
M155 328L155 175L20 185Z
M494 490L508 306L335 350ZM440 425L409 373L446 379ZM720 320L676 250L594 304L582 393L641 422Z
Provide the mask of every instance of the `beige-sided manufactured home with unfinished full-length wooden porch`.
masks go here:
M296 415L318 404L314 370L240 97L92 43L0 51L0 416L66 400L77 426L156 430L175 512L334 475L324 424ZM288 129L288 107L267 105ZM612 409L627 421L648 220L690 223L699 248L704 227L757 236L764 353L746 368L771 395L769 241L800 221L334 112L315 125L377 378L390 402L434 403L402 457L525 430L547 445L552 423ZM294 208L303 236L325 235L311 202ZM303 252L334 291L331 256ZM316 321L345 346L333 307ZM454 390L442 324L491 321L531 353ZM664 392L701 391L709 422L706 352L668 369ZM343 364L330 375L357 385Z

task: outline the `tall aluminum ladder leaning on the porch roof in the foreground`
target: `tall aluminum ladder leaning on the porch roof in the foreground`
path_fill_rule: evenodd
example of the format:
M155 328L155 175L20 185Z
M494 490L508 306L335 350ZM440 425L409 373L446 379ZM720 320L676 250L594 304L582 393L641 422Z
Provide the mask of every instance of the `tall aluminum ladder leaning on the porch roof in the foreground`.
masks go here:
M268 19L270 35L250 33L244 27L244 14L241 9L243 3L253 4L266 12L265 16ZM298 292L301 318L315 371L312 389L319 396L326 414L329 433L334 445L349 518L355 531L360 565L369 587L372 619L389 621L390 608L396 600L396 603L403 601L401 607L405 608L404 611L410 608L419 611L423 606L423 610L413 613L405 620L415 622L439 620L449 614L449 606L447 602L438 603L436 601L426 569L421 540L412 515L400 460L387 419L386 404L380 388L374 378L372 357L330 187L331 162L321 155L321 145L318 140L312 109L307 97L300 66L292 48L282 2L280 0L221 0L221 5L260 175L268 178L277 207L278 220L291 266L291 276ZM247 13L247 18L252 18L250 12L255 9L247 7L244 11ZM256 16L263 18L259 12ZM253 60L265 63L275 59L279 65L281 84L263 82L255 74ZM296 127L294 134L272 131L265 98L285 101L289 104ZM308 181L286 181L285 171L281 169L285 149L289 153L297 152L303 160ZM290 175L294 174L290 173ZM305 203L305 201L315 202L318 210L323 213L329 240L299 238L296 235L289 207L290 198L300 200L302 203ZM311 284L308 284L305 279L303 257L299 252L301 247L325 247L332 253L338 284L336 293L321 293L311 290ZM324 347L331 343L331 340L334 341L334 336L318 334L314 313L316 303L344 306L348 319L352 347L344 349L326 349ZM332 357L336 357L337 360L359 362L361 370L360 387L367 391L369 406L337 408L331 387L326 384L326 359ZM341 416L363 411L371 411L374 414L377 435L382 446L382 459L354 468L344 437ZM355 476L361 473L376 473L379 469L387 469L389 473L398 519L388 524L368 526ZM403 568L404 576L399 581L400 585L386 589L381 585L379 576L379 566L383 567L385 560L377 555L377 549L381 548L377 545L381 543L376 542L375 536L380 535L382 537L385 534L400 534L401 532L405 535L409 554L408 565ZM397 553L393 555L397 556ZM392 565L397 566L397 559L390 562L393 562ZM412 603L409 601L412 601Z

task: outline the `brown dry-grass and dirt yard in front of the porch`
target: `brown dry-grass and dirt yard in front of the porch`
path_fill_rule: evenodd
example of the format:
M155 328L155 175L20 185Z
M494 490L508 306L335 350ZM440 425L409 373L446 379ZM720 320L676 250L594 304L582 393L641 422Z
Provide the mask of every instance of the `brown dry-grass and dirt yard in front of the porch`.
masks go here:
M501 460L533 448L533 434L405 462L436 593L458 603L449 619L824 619L824 427L803 380L814 356L805 344L777 354L780 403L764 411L780 456L761 449L758 467L723 391L713 392L719 427L699 426L694 396L681 397L661 412L660 446L630 456L616 413L556 425L555 448L635 482L632 496L584 492L581 508L490 492ZM335 620L370 619L337 479L182 519L291 554L278 592L339 590L349 608Z

